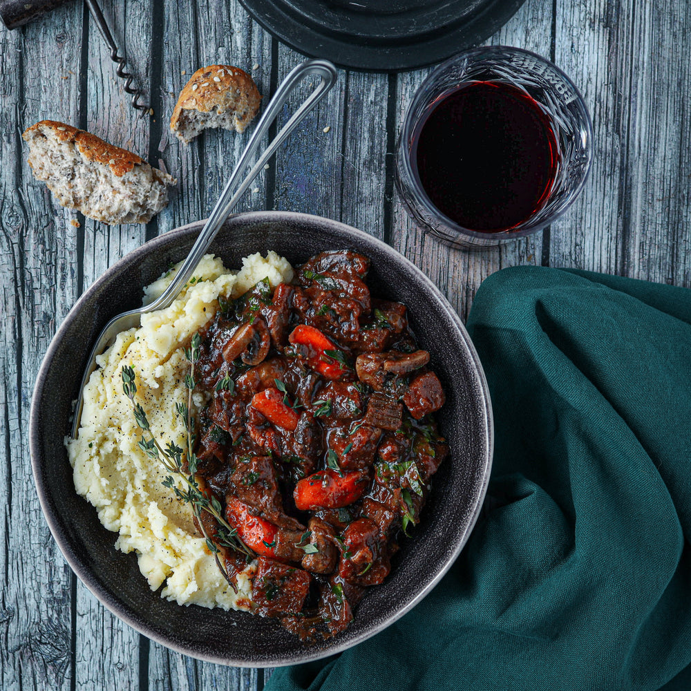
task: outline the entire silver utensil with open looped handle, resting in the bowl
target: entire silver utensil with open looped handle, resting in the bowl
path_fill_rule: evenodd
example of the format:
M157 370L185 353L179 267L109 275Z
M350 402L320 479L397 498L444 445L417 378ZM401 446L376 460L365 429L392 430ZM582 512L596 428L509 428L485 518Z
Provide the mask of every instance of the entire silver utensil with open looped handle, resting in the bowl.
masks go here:
M288 96L293 91L293 89L301 82L304 77L316 75L321 77L321 82L316 86L314 91L309 97L303 102L303 104L293 113L290 120L288 120L285 125L278 132L276 138L269 143L264 153L259 157L259 160L254 164L247 177L243 180L239 187L238 181L240 176L247 168L249 160L254 156L254 153L258 149L261 139L267 133L269 125L272 124L278 111L286 102ZM200 259L205 255L209 245L211 245L212 240L216 237L216 234L220 230L220 227L225 222L226 218L229 216L230 212L235 208L236 204L243 196L247 187L252 184L252 180L258 176L258 173L263 169L265 163L269 158L272 157L278 146L280 146L287 136L296 128L296 126L303 120L307 113L312 111L312 108L316 106L319 101L330 91L330 88L334 86L337 79L336 68L328 61L321 59L305 60L302 64L299 64L290 72L283 82L281 82L276 93L264 111L264 114L259 120L252 138L247 142L245 151L240 156L240 160L235 167L230 180L228 180L223 193L221 193L220 199L216 202L214 210L211 211L211 215L207 220L206 225L202 228L196 243L192 246L192 249L187 255L184 263L180 267L180 270L176 274L175 278L163 294L153 301L150 305L145 307L139 307L137 310L130 310L129 312L123 312L119 314L111 321L106 324L106 327L101 332L98 337L91 354L89 355L88 364L86 370L84 371L84 377L82 377L82 384L79 386L79 398L77 399L77 404L75 406L75 418L72 426L72 437L75 439L77 437L77 431L79 430L79 423L82 421L82 409L84 408L84 386L88 378L91 377L91 372L96 369L96 356L101 354L106 345L115 336L122 331L126 331L131 328L135 328L141 325L141 316L146 314L146 312L154 312L155 310L164 310L173 303L176 299L178 293L182 289L182 286L189 281L194 270L196 269Z

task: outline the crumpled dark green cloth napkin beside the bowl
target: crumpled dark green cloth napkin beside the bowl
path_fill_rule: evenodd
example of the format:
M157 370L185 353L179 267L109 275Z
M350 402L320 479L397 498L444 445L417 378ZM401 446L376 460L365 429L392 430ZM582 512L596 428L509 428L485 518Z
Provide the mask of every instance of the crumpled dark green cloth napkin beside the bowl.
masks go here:
M496 447L451 571L270 691L691 690L691 291L516 267L468 320Z

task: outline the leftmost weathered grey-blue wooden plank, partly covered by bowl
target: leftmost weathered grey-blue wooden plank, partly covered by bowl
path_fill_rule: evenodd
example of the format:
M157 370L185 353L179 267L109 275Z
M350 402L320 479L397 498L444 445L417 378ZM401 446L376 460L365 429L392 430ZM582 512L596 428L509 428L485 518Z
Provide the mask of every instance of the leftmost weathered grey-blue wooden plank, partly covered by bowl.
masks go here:
M41 516L26 443L32 386L50 338L78 294L74 214L58 207L26 164L21 131L79 103L80 8L0 38L3 109L3 549L0 687L68 689L73 676L75 577Z

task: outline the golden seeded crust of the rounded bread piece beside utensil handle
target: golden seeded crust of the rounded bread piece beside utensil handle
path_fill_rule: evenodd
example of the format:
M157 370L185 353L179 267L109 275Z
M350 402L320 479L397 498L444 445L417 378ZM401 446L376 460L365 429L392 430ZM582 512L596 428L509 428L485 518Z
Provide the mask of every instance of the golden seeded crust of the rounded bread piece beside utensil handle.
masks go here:
M234 111L235 129L242 132L259 110L261 95L254 80L239 67L210 65L199 68L180 91L171 115L171 131L178 132L183 111L221 114Z

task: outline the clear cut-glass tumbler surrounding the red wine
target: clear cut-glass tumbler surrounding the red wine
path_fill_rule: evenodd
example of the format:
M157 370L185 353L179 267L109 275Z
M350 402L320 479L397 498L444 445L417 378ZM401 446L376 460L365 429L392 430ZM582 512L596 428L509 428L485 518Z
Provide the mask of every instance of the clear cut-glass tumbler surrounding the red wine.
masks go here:
M448 95L478 82L518 88L547 116L556 140L556 172L540 207L509 229L464 228L430 200L417 170L417 139L430 113ZM462 133L462 127L460 128ZM408 108L396 153L396 184L408 211L442 242L468 249L495 247L535 233L559 218L583 189L592 158L592 123L578 90L551 62L520 48L466 50L427 77ZM463 185L462 179L457 180Z

